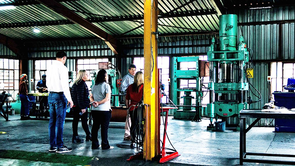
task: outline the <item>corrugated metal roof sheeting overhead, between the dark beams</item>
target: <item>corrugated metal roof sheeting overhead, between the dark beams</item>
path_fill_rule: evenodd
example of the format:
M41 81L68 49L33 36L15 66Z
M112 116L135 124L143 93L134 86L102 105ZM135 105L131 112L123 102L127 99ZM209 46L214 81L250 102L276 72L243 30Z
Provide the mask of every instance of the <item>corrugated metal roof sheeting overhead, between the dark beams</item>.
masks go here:
M15 0L2 0L0 4L9 4L15 2ZM79 1L64 1L60 2L69 10L76 12L81 17L89 20L101 19L101 18L113 18L120 17L121 19L130 17L142 17L144 10L144 1L142 0L79 0ZM160 0L158 2L158 8L166 14L173 9L188 3L189 0L168 1ZM191 12L209 12L208 15L192 14L191 16L185 16L183 12L188 14ZM186 33L197 32L198 30L204 31L217 31L218 30L218 16L217 14L210 14L214 8L209 0L193 1L188 5L173 11L172 14L182 13L185 17L176 16L167 18L160 18L158 20L158 30L162 34L166 33ZM104 17L106 16L106 17ZM1 10L0 11L0 26L6 25L6 27L0 28L0 33L13 39L19 40L31 40L31 39L53 39L53 38L77 38L77 37L93 37L94 35L84 30L78 25L74 25L68 22L67 19L60 14L52 11L42 4L23 5L16 6L16 9ZM42 26L42 22L53 21L65 21L61 22L62 25ZM21 24L22 23L22 24ZM30 23L25 25L23 23ZM38 23L40 25L38 25ZM68 24L70 23L70 24ZM17 24L21 24L17 27ZM103 29L105 32L117 36L130 29L136 28L143 24L143 20L136 21L114 21L114 22L94 22L97 27ZM40 33L32 33L32 29L35 26L41 30ZM126 35L142 35L143 27L135 29L127 33ZM181 38L179 38L181 40ZM132 42L136 42L133 40Z

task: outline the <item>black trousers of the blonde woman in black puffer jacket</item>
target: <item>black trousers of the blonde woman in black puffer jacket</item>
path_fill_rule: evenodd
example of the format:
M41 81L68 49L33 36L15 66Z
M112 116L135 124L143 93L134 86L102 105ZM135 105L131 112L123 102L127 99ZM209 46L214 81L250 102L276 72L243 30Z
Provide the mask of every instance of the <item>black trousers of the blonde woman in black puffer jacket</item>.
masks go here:
M73 123L72 123L72 127L73 127L73 136L78 136L78 123L79 120L81 119L81 123L82 123L82 128L85 132L86 135L90 135L90 131L89 131L89 127L87 124L88 121L88 110L86 110L86 112L82 115L80 115L79 113L81 112L81 108L78 106L73 107Z

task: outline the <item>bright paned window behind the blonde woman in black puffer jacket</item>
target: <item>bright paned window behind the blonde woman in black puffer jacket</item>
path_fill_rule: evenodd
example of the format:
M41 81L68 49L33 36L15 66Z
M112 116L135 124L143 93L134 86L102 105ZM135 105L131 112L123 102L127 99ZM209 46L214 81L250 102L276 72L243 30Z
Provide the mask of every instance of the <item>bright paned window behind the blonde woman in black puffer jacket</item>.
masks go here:
M90 77L90 72L92 70L99 70L98 63L99 62L109 62L108 58L99 58L99 59L78 59L77 60L77 74L79 70L86 70L88 73L89 80L85 81L88 89L91 89L92 86L92 77Z

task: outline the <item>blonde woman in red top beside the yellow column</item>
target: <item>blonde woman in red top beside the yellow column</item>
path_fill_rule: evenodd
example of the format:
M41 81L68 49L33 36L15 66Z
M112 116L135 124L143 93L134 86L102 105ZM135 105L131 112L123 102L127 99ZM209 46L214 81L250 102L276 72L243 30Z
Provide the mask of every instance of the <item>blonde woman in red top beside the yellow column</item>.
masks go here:
M126 105L129 109L131 119L131 140L135 141L135 128L138 125L137 105L143 96L143 73L138 71L134 76L134 83L128 86L126 91Z

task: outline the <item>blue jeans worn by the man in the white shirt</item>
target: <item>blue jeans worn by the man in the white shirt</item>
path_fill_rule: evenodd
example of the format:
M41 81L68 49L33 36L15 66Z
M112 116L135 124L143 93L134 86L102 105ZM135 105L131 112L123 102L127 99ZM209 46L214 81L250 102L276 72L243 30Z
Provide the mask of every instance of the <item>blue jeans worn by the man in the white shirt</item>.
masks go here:
M49 93L49 139L51 147L63 146L63 126L65 124L65 110L67 109L67 99L64 94Z

